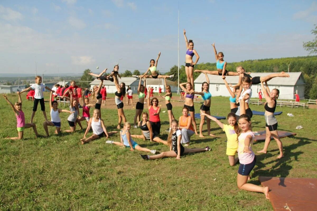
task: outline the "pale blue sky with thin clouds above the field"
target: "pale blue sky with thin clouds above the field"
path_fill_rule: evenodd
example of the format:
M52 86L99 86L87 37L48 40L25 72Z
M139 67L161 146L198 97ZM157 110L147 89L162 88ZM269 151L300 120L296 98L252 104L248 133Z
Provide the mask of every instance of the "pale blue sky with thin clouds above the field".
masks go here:
M185 63L183 30L200 56L224 60L306 56L315 38L317 1L0 1L0 74L97 73L119 62L120 72ZM121 59L121 60L119 60ZM195 59L195 57L194 57ZM99 70L96 67L99 66Z

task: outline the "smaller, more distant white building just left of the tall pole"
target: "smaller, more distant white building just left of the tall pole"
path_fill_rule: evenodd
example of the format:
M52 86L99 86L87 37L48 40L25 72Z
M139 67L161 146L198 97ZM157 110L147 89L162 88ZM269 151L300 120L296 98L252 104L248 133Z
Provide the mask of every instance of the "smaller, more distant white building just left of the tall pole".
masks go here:
M134 78L134 77L122 77L121 79L119 78L119 83L122 83L122 82L125 83L126 88L129 86L131 87L131 90L133 91L133 93L137 93L139 80L140 80L139 78ZM167 85L171 86L172 92L177 92L177 84L175 84L175 82L166 80L166 83ZM89 84L90 89L92 89L94 85L98 86L99 84L100 84L100 80L95 79ZM141 82L141 84L144 84L143 81ZM102 85L106 87L107 93L114 93L117 91L112 81L104 80ZM153 87L154 89L153 92L159 92L159 87L161 87L162 92L165 91L164 79L147 78L146 87L148 88L149 86Z

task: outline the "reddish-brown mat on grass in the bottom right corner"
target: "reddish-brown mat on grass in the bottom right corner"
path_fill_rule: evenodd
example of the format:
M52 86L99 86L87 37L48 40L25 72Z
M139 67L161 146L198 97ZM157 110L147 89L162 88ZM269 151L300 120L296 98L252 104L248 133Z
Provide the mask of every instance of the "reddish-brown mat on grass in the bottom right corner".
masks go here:
M317 210L317 178L262 177L275 211Z

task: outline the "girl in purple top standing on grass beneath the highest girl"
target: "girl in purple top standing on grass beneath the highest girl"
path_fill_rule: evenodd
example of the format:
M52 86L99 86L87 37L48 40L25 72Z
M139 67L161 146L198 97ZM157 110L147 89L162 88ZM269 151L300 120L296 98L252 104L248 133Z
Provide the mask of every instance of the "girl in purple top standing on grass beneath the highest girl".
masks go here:
M185 84L186 84L186 89L184 87ZM186 107L189 110L189 114L191 115L191 118L193 121L195 134L198 135L197 125L196 125L196 120L195 120L195 107L194 107L194 96L195 96L194 93L195 93L195 91L193 90L192 85L189 82L179 84L179 87L186 93L184 107Z

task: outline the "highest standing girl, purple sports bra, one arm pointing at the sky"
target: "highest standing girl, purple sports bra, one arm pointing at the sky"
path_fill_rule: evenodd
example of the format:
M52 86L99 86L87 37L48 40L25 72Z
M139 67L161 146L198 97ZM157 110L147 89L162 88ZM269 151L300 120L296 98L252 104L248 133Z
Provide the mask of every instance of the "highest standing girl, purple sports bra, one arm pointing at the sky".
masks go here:
M186 44L186 64L185 64L185 72L187 76L187 82L194 84L194 76L193 76L193 71L194 71L194 66L197 64L199 55L196 50L194 50L194 43L193 40L187 40L186 37L186 30L184 29L184 38L185 38L185 44ZM196 55L196 61L193 62L193 56Z

